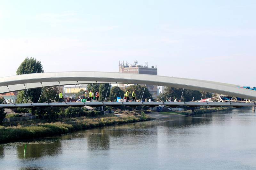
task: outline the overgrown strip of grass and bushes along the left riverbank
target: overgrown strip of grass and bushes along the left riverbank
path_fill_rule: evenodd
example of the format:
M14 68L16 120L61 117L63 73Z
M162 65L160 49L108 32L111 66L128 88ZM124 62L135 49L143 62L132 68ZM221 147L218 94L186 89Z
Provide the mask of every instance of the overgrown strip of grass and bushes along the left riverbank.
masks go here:
M112 114L111 114L112 115ZM0 127L0 143L15 142L23 139L49 137L53 135L65 134L71 131L78 131L94 127L110 126L116 124L126 124L140 121L153 120L142 113L137 116L122 116L116 117L100 117L88 118L78 117L65 119L65 122L44 123L31 126L15 126L15 127Z

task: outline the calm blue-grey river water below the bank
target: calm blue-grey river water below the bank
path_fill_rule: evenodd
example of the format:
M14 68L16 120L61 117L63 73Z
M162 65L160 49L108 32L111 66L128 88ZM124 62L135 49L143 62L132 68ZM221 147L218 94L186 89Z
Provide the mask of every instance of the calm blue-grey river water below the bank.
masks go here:
M171 117L0 145L0 169L256 169L248 109Z

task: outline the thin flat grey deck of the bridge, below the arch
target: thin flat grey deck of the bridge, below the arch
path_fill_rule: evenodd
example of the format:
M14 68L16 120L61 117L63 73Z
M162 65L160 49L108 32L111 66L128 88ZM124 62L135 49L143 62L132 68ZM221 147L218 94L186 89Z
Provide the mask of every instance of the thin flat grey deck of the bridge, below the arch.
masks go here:
M255 103L219 103L219 102L78 102L78 103L23 103L23 104L0 104L0 108L44 108L44 107L82 107L82 106L148 106L155 107L159 105L165 105L168 107L177 107L177 106L188 106L188 107L197 107L197 106L211 106L211 107L220 107L220 106L233 106L233 107L243 107L243 106L255 106Z

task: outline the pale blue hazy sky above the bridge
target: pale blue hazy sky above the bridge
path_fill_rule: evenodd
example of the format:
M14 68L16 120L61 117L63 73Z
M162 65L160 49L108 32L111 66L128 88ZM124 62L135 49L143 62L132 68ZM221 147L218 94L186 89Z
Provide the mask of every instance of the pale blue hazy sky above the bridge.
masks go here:
M0 77L25 57L44 72L118 72L119 61L158 75L256 86L256 1L0 0Z

